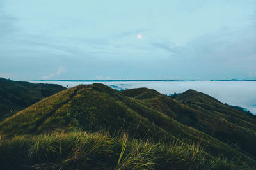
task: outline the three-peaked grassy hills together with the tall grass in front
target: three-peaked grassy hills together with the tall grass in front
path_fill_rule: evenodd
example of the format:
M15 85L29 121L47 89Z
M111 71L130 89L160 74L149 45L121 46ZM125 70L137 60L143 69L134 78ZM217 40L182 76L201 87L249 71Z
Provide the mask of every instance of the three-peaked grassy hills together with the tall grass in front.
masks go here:
M0 161L8 167L15 149L16 167L254 168L254 117L188 92L171 99L147 88L118 92L97 83L64 90L0 123Z

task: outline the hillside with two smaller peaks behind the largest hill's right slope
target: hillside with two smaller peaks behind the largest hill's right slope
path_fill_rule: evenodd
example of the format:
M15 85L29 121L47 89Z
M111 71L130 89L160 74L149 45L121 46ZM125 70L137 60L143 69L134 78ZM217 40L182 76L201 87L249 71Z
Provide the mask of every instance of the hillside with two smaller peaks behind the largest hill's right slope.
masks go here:
M156 93L154 96L141 98L145 96L145 92L146 90L141 89L138 94L138 89L129 89L122 93L136 97L144 106L160 111L184 125L205 132L243 153L256 157L255 116L236 110L195 90L179 94L175 100Z

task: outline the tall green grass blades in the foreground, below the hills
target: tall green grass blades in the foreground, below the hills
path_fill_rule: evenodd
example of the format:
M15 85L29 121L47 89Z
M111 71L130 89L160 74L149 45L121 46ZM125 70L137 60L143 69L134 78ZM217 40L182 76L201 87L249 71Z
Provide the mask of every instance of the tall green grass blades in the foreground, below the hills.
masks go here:
M191 141L169 146L108 132L0 138L3 169L246 169Z

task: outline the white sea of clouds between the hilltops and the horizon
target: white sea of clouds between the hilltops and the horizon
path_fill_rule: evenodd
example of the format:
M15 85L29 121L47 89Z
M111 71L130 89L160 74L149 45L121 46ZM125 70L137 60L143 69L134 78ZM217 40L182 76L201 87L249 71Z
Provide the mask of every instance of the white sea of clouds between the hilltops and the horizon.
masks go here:
M64 87L74 87L79 84L92 84L84 81L30 81L31 83L53 83ZM174 94L193 89L209 94L222 103L241 106L256 113L256 81L102 81L116 90L138 87L155 89L162 94Z

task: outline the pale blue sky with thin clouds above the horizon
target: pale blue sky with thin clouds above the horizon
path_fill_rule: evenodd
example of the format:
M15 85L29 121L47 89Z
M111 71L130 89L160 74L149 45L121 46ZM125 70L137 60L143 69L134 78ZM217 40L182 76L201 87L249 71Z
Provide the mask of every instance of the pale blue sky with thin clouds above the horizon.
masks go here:
M0 0L0 77L256 79L256 1Z

